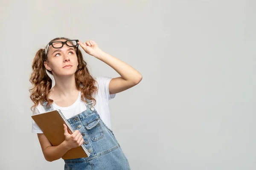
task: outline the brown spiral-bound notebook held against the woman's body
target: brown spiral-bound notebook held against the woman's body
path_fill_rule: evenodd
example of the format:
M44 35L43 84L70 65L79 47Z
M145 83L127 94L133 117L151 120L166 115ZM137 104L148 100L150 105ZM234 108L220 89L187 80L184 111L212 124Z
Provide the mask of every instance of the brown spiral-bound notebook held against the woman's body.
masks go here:
M52 146L58 146L64 140L64 126L65 123L68 127L69 133L74 133L73 127L64 117L60 110L49 111L46 113L36 114L31 116L40 129L44 132ZM62 156L62 159L76 159L89 157L90 153L82 144L79 147L72 148Z

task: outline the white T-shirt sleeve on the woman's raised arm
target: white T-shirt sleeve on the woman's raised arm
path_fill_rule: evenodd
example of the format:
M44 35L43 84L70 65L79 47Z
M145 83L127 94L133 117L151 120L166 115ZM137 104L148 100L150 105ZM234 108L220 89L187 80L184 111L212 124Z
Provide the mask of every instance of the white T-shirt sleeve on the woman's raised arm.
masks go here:
M99 93L107 100L115 98L116 94L109 94L109 83L113 79L112 77L97 77L99 84Z

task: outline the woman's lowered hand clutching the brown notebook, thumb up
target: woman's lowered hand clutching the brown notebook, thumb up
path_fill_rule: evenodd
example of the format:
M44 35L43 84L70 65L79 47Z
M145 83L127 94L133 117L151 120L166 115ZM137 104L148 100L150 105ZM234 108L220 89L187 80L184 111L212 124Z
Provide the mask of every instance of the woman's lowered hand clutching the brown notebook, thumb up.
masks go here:
M75 130L74 133L70 134L67 131L67 125L63 124L63 126L64 126L64 136L65 136L64 142L66 143L69 149L74 147L79 147L84 143L83 136L81 135L79 130Z

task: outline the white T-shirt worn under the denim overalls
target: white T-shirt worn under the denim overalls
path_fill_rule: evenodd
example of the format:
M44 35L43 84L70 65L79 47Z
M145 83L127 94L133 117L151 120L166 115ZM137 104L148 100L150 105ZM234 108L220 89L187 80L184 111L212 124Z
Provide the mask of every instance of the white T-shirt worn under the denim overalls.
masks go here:
M110 122L110 112L108 107L108 100L113 99L116 94L109 94L109 82L112 78L111 77L96 77L96 81L98 82L95 84L98 88L98 93L93 94L93 98L96 100L96 105L94 108L99 113L102 121L111 129L111 122ZM65 116L66 119L69 119L72 116L75 116L83 111L86 110L85 103L81 100L81 91L79 92L79 96L71 106L69 107L60 107L56 105L54 102L52 103L52 109L61 110L61 113ZM40 114L46 112L44 107L39 103L38 106L35 108L35 111L32 112L32 115ZM35 121L32 119L32 133L43 133L43 131L38 127Z

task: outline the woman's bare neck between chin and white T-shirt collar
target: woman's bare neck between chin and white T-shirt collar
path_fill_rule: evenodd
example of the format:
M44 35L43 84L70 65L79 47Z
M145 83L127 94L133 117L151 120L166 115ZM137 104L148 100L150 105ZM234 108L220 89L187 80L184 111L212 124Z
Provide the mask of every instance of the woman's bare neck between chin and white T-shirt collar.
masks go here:
M76 88L75 74L69 77L55 76L54 92L59 97L68 97L74 95L79 90Z

